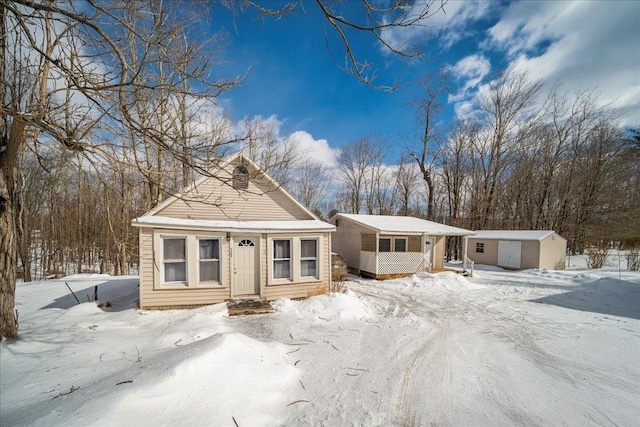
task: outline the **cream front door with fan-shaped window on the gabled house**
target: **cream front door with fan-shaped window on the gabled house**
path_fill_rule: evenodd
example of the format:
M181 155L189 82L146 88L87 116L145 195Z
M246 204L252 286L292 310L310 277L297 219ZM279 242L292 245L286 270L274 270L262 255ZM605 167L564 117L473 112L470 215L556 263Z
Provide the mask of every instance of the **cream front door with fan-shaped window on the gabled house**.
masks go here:
M233 248L233 289L232 297L258 295L258 239L240 237Z

